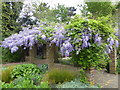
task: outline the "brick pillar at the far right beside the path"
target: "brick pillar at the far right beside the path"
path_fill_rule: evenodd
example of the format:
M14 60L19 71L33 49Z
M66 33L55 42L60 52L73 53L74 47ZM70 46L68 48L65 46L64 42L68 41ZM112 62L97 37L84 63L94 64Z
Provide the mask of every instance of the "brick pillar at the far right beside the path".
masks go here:
M116 72L116 49L114 48L113 51L109 54L111 58L111 62L109 63L109 70L110 73Z

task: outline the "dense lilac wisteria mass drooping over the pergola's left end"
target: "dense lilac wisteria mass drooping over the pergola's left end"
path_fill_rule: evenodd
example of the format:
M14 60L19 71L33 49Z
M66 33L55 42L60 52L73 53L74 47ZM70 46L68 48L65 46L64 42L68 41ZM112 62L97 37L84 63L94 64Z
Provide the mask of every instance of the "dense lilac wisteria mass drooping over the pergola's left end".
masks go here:
M2 42L2 47L9 48L11 53L16 52L20 46L24 46L24 49L26 47L32 48L32 46L37 43L37 35L42 35L41 31L38 29L38 27L32 29L24 27L23 31L20 31L19 34L13 34L6 38Z

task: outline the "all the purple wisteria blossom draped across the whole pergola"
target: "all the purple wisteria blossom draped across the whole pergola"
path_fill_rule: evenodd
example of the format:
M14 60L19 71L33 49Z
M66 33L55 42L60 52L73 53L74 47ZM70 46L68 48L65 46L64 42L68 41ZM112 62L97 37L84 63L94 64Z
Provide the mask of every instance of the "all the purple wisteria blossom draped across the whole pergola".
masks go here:
M71 35L73 33L65 30L64 25L62 24L52 26L53 30L51 32L47 32L52 33L52 36L50 37L44 33L45 29L42 26L35 26L32 28L23 27L22 29L23 30L20 31L18 34L13 34L10 37L6 38L4 41L2 41L1 46L4 48L9 48L11 50L11 53L16 52L21 46L24 46L24 49L26 49L26 47L30 47L31 49L34 44L38 43L37 37L40 36L40 39L45 40L50 44L55 43L56 46L60 47L62 55L69 56L70 52L74 50L76 50L76 54L78 54L81 49L90 47L92 44L90 42L91 40L93 40L94 43L98 45L102 43L102 37L100 36L100 34L97 33L93 35L91 29L81 30L81 32L78 32L81 33L79 35L79 38L76 38L74 36L74 39L71 38ZM71 29L71 31L74 32L74 29ZM118 47L118 40L114 40L112 37L109 37L107 39L106 45L107 53L111 52L111 50L113 49L113 45L116 45L116 47Z

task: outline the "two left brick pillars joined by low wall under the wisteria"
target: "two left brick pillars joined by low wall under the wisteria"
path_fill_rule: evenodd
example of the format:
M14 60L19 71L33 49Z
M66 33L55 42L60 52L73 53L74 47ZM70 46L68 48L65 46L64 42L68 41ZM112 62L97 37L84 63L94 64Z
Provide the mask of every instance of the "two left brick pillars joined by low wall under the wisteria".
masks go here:
M42 63L40 63L41 59L39 60L35 58L37 55L36 45L34 45L32 49L29 49L29 56L26 56L26 61L35 64L48 64L48 68L51 70L54 66L54 61L57 60L56 46L55 44L52 44L51 46L47 44L44 48L46 48L46 50L43 52L46 59L42 59Z

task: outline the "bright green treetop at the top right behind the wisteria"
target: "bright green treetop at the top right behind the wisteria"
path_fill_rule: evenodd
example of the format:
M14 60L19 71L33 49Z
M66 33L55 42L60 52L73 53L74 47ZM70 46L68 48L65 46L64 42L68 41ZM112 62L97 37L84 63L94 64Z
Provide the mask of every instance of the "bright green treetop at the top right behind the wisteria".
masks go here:
M114 9L112 2L85 2L87 4L87 10L90 11L93 16L107 16L112 14Z

